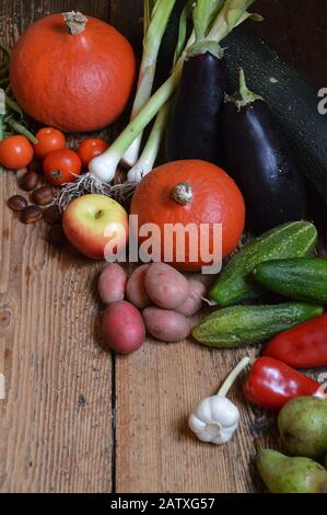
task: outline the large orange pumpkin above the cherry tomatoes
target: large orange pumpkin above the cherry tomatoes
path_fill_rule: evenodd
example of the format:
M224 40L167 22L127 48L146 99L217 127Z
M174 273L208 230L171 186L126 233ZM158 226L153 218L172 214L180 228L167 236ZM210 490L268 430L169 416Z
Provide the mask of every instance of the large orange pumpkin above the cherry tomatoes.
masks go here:
M72 12L27 28L13 49L10 80L33 118L66 131L91 131L121 114L135 73L133 50L119 32Z

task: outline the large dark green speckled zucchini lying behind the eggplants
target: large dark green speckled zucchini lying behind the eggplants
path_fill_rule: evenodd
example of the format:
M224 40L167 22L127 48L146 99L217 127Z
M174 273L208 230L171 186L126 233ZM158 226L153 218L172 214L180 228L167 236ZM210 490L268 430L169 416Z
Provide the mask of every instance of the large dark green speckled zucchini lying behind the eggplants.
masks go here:
M296 156L302 172L327 203L327 115L318 113L318 90L278 52L245 27L224 41L232 82L240 68L248 88L271 106L281 134Z

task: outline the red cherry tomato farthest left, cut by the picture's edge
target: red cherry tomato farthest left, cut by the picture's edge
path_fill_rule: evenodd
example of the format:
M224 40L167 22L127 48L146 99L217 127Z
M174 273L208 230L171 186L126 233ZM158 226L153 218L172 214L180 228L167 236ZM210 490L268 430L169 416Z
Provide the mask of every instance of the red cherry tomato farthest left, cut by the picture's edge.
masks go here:
M0 141L0 163L9 170L28 167L33 156L33 146L25 136L10 136Z

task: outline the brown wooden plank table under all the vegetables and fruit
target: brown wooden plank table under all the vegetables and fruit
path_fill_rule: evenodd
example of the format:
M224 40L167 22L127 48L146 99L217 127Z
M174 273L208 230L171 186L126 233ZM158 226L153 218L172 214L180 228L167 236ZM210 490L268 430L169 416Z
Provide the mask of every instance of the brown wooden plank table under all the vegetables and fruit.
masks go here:
M0 39L34 20L80 10L112 22L140 47L140 0L0 1ZM327 85L327 16L320 0L261 0L255 30ZM325 82L324 82L325 81ZM244 405L224 447L197 442L187 417L244 352L148 341L128 357L103 350L96 276L102 264L46 242L5 206L14 173L0 178L1 492L253 492L253 458L273 440L273 421Z

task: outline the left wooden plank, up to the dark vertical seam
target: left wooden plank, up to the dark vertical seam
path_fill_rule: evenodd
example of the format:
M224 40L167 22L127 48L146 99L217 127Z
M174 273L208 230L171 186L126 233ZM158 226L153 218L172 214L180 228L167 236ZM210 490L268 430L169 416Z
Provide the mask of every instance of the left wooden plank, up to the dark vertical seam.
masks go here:
M68 9L108 16L106 1L2 1L12 43L35 18ZM86 9L87 8L87 9ZM5 13L5 15L3 14ZM0 179L0 402L2 492L112 490L112 359L98 345L98 266L52 250L46 227L5 206L16 176Z

